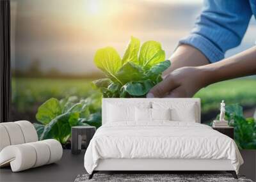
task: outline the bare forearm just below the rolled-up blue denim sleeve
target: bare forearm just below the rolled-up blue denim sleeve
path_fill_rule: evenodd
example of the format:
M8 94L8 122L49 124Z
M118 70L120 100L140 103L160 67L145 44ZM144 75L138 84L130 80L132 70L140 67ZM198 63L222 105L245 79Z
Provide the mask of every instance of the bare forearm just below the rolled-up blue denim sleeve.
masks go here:
M163 77L184 66L202 66L209 64L208 59L198 49L190 45L180 45L170 57L172 66L164 71Z

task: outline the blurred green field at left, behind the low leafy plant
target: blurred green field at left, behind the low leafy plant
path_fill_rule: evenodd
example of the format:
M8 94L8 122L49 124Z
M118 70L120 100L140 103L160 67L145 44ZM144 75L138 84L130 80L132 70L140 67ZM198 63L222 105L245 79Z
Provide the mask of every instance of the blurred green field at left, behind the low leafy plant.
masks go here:
M31 110L49 98L65 98L78 96L86 98L95 90L88 79L12 79L12 103L24 112Z

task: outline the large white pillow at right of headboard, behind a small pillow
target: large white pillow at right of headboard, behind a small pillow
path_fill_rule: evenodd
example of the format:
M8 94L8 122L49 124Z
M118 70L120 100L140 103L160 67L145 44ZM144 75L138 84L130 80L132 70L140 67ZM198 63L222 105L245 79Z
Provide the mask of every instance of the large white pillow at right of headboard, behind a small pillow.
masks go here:
M171 109L172 121L196 122L195 102L152 102L154 109Z

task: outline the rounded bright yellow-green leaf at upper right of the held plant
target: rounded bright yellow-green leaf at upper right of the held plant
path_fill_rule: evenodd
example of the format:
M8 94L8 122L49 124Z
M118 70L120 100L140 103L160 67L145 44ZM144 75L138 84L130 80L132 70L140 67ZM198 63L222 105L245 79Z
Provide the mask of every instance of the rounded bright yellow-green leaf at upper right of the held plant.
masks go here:
M140 49L139 64L146 69L161 63L165 59L165 52L161 44L156 41L148 41L143 43Z

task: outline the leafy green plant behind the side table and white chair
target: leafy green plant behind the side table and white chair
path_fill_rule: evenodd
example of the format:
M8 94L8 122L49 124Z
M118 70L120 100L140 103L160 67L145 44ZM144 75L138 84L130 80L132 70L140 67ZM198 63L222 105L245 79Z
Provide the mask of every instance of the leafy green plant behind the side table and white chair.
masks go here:
M71 135L71 127L101 125L101 96L93 95L85 100L71 96L62 100L50 98L36 113L39 123L34 123L40 140L56 139L65 144Z

